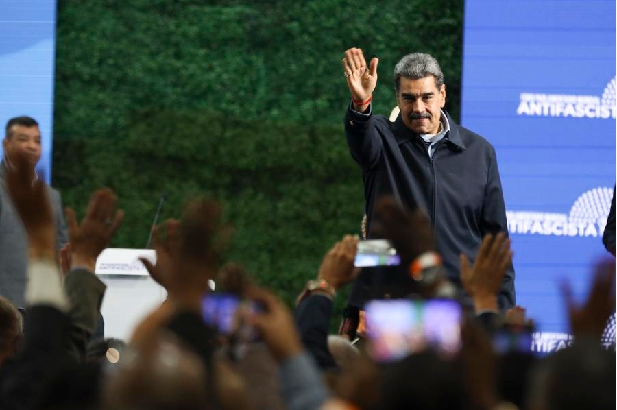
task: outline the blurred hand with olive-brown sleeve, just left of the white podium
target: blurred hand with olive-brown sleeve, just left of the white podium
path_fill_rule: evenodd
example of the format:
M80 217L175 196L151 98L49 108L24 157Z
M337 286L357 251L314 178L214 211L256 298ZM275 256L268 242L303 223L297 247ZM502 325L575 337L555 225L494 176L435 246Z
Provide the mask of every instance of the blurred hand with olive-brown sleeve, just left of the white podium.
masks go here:
M66 208L66 225L71 243L71 267L81 266L94 272L97 257L108 247L124 219L123 210L116 209L118 197L109 188L95 191L90 196L86 216L77 224L75 211Z

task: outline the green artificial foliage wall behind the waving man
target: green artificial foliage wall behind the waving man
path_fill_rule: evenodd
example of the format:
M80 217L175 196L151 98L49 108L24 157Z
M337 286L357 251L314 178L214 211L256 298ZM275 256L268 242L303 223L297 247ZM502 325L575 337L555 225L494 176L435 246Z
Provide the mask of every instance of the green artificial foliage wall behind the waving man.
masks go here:
M116 190L122 247L145 245L161 193L162 217L217 197L236 227L230 257L291 301L363 215L343 51L380 58L384 114L398 59L433 54L457 118L462 12L451 0L59 1L53 184L79 210L93 189Z

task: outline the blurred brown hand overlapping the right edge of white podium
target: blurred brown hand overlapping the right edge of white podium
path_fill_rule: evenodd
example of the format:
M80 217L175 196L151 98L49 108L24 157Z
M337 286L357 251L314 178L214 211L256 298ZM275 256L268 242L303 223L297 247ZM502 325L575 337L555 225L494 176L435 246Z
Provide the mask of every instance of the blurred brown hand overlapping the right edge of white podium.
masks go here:
M169 276L173 275L180 258L180 221L167 219L162 224L152 228L152 244L156 252L156 264L147 258L139 258L152 279L167 289Z

